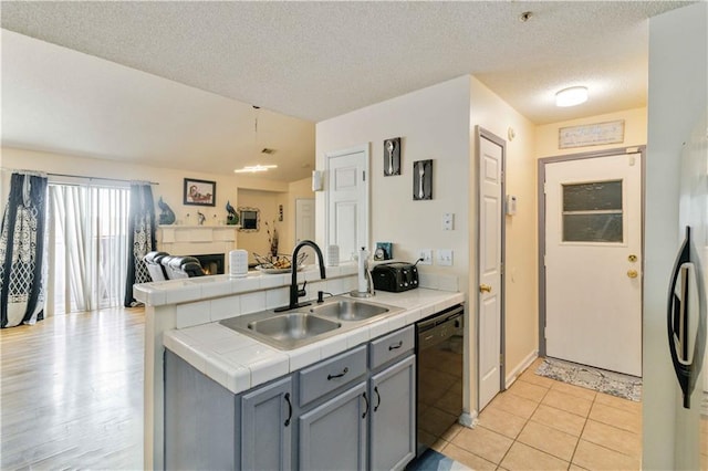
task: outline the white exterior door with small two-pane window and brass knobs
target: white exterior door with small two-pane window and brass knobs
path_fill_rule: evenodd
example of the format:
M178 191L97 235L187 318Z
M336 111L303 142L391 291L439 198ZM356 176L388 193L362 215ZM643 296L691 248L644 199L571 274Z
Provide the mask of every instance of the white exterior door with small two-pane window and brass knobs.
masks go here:
M545 353L642 376L642 155L545 164Z

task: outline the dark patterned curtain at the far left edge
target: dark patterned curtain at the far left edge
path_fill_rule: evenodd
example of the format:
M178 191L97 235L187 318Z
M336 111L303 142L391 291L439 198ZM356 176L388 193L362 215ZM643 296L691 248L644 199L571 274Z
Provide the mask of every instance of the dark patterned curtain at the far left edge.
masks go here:
M44 318L46 177L12 174L0 232L0 327Z

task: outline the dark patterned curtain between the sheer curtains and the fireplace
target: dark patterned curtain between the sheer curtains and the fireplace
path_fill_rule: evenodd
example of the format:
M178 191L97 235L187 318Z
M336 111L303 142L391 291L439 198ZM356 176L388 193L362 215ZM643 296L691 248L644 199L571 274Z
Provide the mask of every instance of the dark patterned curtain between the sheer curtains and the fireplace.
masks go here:
M126 307L139 302L133 297L133 285L153 281L143 257L156 250L156 222L153 189L148 184L131 185L131 206L128 216L128 273L125 283Z

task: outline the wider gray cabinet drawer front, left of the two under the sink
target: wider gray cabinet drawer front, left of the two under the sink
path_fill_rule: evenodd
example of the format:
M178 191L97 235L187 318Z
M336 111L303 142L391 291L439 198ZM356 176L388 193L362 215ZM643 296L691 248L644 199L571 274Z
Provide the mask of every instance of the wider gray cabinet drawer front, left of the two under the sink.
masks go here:
M300 370L300 406L346 385L365 373L365 345Z

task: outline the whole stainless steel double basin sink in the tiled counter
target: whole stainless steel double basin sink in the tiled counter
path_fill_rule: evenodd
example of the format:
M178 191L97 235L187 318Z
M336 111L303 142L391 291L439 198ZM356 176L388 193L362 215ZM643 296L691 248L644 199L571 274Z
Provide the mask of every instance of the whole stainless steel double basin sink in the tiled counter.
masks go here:
M332 296L323 303L291 311L262 311L220 321L220 324L279 349L293 349L369 322L397 314L400 307Z

